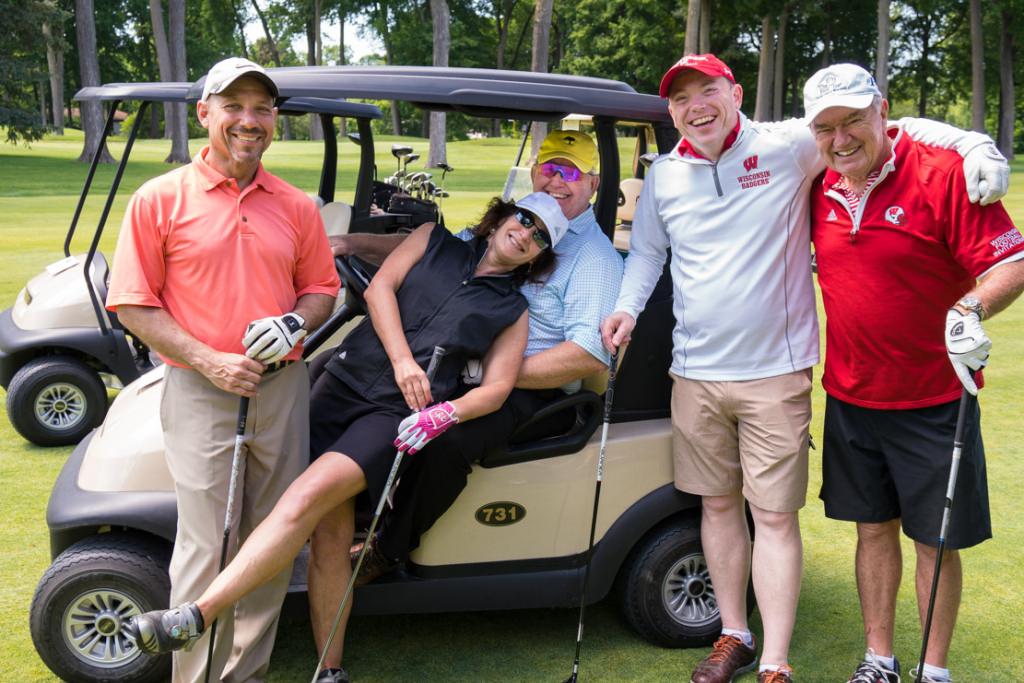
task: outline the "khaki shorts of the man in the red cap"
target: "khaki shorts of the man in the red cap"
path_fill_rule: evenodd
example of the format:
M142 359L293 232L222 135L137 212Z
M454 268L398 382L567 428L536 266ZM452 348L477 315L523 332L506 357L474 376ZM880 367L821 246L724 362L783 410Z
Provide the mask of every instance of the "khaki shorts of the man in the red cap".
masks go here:
M804 507L810 368L743 382L672 379L677 488L698 496L742 492L771 512Z

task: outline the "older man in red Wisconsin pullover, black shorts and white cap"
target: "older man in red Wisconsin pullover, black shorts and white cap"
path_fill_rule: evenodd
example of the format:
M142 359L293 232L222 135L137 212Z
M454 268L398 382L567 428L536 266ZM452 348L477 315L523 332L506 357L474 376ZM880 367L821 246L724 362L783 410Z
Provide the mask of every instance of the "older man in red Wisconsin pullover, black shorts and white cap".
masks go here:
M1024 290L1024 237L1001 204L968 201L958 155L887 129L889 104L860 67L819 71L804 102L828 167L811 190L827 317L821 499L828 517L857 522L867 653L850 680L894 683L900 526L914 542L923 608L958 398L965 389L977 393L970 371L988 358L981 321ZM979 420L975 408L924 663L923 680L933 683L951 680L957 550L991 537Z

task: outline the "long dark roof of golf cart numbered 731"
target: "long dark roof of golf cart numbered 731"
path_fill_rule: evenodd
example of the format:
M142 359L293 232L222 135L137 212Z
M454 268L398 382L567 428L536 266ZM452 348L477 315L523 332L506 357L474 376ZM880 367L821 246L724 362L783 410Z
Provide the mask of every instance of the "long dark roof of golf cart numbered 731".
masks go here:
M671 124L660 97L601 78L444 67L285 67L267 73L282 97L399 99L484 118L557 121L578 113ZM204 79L193 86L190 99L202 92Z

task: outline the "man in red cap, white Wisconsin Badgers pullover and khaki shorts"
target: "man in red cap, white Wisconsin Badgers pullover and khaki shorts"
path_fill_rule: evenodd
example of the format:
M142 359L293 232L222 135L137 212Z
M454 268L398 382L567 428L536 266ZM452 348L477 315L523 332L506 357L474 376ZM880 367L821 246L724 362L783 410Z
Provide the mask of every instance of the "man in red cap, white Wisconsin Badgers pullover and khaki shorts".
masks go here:
M671 249L676 487L701 497L701 541L723 627L690 680L728 683L757 666L746 623L753 572L764 625L758 681L791 683L818 361L808 188L824 162L806 121L748 120L742 87L713 54L684 56L659 92L682 139L647 172L602 337L609 348L629 340ZM1006 193L994 181L1000 170L985 166L986 136L919 119L900 125L966 156L969 189L972 169L982 169L991 185L983 202ZM744 504L757 527L753 550Z

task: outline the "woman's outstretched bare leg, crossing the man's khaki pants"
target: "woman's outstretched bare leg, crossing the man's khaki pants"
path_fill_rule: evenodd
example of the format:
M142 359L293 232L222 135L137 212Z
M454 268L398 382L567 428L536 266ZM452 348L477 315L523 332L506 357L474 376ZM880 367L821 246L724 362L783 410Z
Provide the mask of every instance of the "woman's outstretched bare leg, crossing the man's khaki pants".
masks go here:
M362 470L348 456L326 453L317 458L196 601L203 621L211 624L224 608L288 566L321 518L366 487Z

